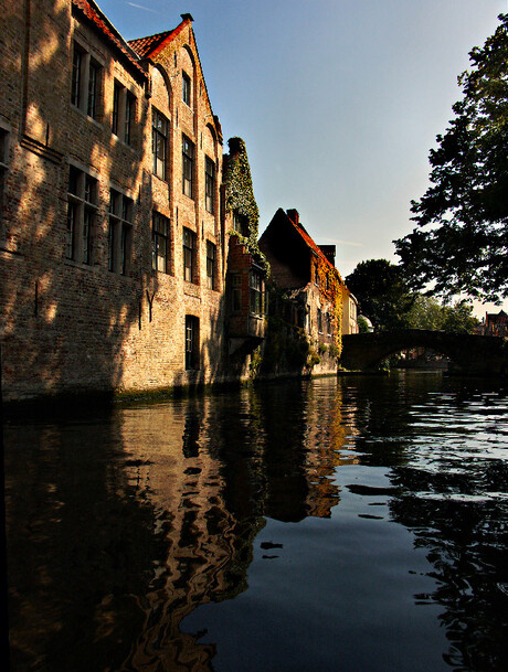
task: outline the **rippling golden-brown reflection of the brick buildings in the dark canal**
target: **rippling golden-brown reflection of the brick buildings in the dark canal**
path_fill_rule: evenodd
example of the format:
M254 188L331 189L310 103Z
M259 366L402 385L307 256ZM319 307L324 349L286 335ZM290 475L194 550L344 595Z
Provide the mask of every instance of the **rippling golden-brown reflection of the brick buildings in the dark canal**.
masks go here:
M340 413L295 382L10 424L13 670L211 670L180 621L246 589L266 516L330 515Z

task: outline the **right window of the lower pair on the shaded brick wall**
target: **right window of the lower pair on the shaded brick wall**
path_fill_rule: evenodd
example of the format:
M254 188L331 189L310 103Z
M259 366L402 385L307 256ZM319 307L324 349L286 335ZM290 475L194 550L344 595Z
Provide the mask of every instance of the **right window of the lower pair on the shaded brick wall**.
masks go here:
M109 190L108 268L121 275L130 270L133 211L131 199Z

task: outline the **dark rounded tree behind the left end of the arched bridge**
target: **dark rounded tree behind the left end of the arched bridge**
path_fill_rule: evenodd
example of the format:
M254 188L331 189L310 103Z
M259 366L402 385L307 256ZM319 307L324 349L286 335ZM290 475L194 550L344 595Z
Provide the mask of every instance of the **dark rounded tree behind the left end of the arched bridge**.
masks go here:
M360 312L370 319L374 329L405 327L405 313L413 297L399 266L387 259L360 262L346 278L346 286L356 296Z

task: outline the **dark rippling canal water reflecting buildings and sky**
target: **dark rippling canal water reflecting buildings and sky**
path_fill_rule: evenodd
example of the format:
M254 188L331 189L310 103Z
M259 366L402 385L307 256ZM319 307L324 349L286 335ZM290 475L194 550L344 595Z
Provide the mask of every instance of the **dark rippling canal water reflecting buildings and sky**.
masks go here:
M8 418L12 672L506 672L507 420L433 373Z

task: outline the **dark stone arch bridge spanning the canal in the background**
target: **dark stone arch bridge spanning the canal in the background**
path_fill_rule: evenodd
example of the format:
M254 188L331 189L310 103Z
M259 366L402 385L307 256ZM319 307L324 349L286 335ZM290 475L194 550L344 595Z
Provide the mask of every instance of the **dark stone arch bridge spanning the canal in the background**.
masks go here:
M427 329L343 335L340 364L349 370L373 370L391 354L412 348L426 348L446 355L451 360L451 370L457 373L508 373L508 339Z

